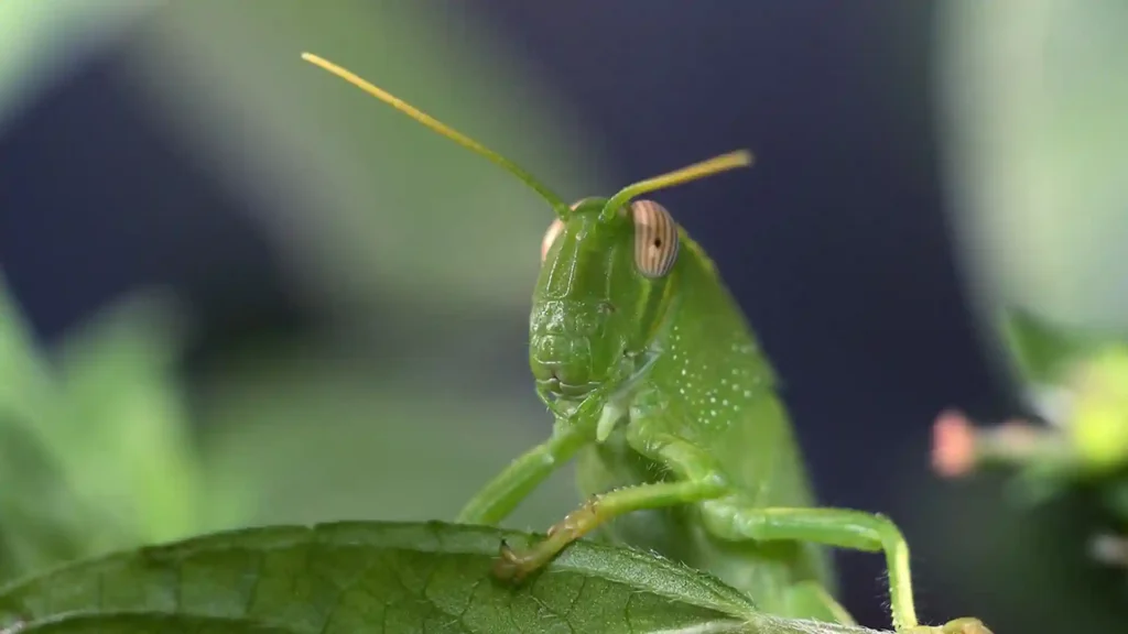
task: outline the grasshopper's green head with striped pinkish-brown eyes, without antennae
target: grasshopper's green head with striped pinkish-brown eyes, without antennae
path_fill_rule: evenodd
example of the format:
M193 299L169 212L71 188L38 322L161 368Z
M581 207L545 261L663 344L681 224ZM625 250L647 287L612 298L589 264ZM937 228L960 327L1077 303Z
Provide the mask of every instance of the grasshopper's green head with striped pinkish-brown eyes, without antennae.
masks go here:
M634 367L669 305L678 227L664 208L636 201L605 214L585 199L549 226L529 319L539 391L574 399Z

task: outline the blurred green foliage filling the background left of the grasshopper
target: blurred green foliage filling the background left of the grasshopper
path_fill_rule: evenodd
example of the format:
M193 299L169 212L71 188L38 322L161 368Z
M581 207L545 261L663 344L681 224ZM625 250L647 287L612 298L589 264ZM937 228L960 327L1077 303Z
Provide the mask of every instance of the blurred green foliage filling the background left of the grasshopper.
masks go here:
M564 195L598 191L597 174L619 182L567 102L473 11L16 0L0 6L0 34L18 35L0 59L0 130L112 45L115 72L169 143L266 210L253 221L333 324L235 350L185 384L179 337L193 324L177 323L171 296L126 298L59 350L34 345L9 307L8 573L248 523L451 518L543 440L550 417L527 375L526 324L552 213L495 166L299 59L352 68ZM574 501L565 469L508 523L547 526ZM60 535L37 529L43 544L20 545L19 526L33 525Z

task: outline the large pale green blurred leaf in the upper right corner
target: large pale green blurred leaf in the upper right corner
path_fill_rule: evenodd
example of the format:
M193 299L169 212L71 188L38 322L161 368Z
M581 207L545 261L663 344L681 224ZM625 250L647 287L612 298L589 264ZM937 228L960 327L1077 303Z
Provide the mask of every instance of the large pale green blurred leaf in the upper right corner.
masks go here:
M988 315L1128 327L1128 3L940 7L940 139L969 283Z

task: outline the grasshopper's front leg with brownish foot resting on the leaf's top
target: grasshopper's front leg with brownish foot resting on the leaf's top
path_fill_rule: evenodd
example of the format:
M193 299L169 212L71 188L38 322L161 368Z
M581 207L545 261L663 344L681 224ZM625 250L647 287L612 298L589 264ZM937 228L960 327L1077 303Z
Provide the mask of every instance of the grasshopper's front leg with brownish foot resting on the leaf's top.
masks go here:
M618 516L720 497L726 491L724 485L713 481L670 482L631 486L597 495L548 529L548 536L527 551L518 552L503 543L494 573L502 579L520 580L547 564L572 541Z

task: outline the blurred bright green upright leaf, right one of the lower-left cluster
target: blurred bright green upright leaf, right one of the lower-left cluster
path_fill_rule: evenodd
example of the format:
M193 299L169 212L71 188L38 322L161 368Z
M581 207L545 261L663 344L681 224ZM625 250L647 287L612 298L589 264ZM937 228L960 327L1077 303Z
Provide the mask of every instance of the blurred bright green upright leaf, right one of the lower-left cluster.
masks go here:
M175 375L177 308L164 293L136 293L68 333L53 354L58 396L71 412L59 441L65 460L81 474L83 497L132 527L141 543L194 535L209 512ZM221 501L227 492L208 495Z

